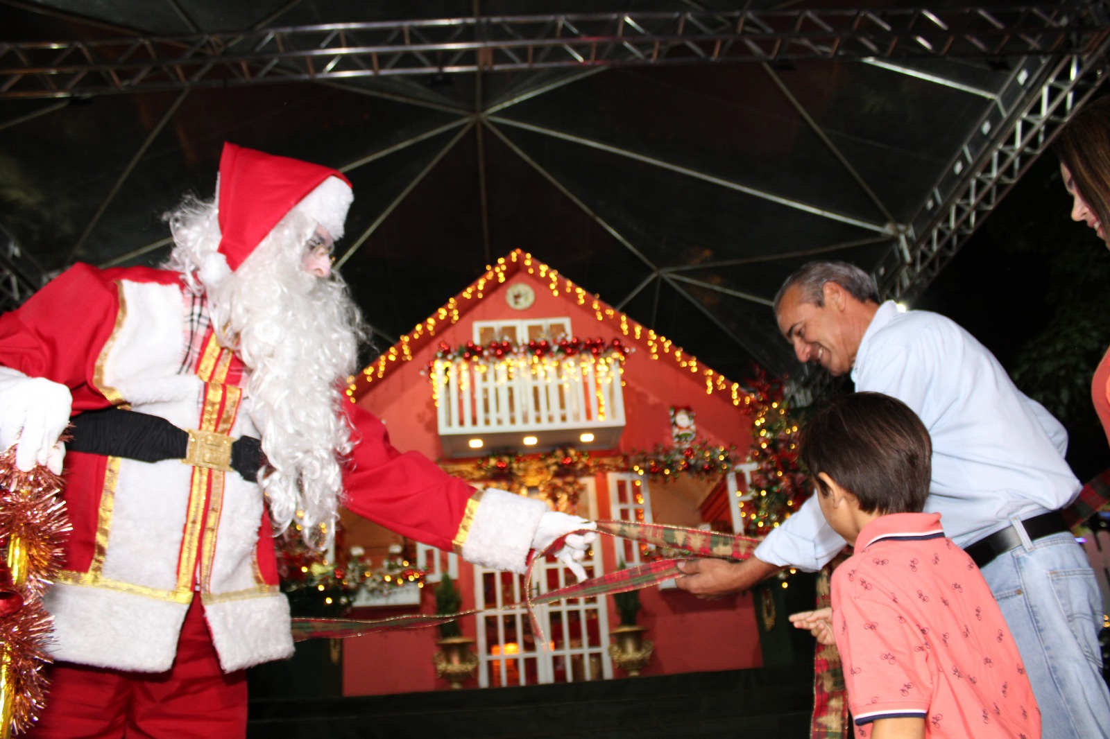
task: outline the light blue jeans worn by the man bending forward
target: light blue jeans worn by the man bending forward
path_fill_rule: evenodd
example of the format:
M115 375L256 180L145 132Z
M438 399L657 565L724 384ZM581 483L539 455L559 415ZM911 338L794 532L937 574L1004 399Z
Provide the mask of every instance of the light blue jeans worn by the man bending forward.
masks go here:
M1102 599L1083 549L1068 533L1029 541L982 568L1041 710L1045 739L1110 738L1102 679Z

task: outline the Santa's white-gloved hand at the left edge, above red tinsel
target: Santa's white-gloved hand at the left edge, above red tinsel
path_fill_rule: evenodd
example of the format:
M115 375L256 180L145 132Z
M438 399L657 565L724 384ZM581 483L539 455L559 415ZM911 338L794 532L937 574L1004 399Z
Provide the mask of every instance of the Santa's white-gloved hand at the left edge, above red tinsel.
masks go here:
M65 446L58 437L69 424L72 402L64 385L0 367L0 451L18 444L16 466L21 470L39 464L60 475Z

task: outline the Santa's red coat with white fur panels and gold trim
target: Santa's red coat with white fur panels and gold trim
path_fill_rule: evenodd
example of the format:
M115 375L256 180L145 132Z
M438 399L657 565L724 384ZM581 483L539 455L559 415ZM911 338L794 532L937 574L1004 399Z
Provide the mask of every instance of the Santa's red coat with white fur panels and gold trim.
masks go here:
M182 366L190 334L180 277L78 264L0 315L0 364L65 385L74 413L114 405L180 428L258 436L228 350L212 340L194 367ZM347 412L356 442L344 477L347 508L471 561L523 568L546 506L475 493L427 458L394 449L369 413L353 404ZM46 598L56 658L167 670L196 591L225 670L292 655L256 484L176 459L75 452L64 480L73 533Z

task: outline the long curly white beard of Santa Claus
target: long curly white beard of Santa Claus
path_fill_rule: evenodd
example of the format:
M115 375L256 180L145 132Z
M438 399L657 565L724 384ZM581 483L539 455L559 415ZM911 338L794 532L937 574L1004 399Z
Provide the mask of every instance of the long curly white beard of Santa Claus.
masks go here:
M323 547L334 536L341 460L352 448L342 388L356 370L363 328L346 284L301 266L315 227L290 213L206 294L218 338L250 370L244 389L269 463L259 482L270 515L279 533L296 524L306 543Z

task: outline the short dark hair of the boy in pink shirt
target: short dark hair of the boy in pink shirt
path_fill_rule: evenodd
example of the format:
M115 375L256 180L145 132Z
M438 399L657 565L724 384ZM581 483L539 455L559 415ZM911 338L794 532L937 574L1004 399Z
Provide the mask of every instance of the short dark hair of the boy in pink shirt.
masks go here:
M806 424L801 460L821 494L825 473L864 513L919 513L932 476L929 432L901 401L852 393L828 401Z

